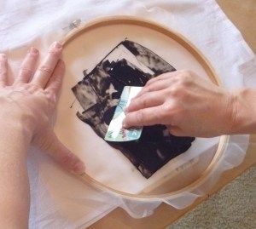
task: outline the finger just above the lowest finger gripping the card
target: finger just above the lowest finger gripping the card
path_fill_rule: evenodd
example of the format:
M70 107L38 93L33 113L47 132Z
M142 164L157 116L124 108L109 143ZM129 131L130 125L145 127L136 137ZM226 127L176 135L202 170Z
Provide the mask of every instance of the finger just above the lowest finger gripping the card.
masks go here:
M165 94L162 92L148 92L131 100L131 103L126 108L125 112L136 112L147 107L160 106L164 101Z

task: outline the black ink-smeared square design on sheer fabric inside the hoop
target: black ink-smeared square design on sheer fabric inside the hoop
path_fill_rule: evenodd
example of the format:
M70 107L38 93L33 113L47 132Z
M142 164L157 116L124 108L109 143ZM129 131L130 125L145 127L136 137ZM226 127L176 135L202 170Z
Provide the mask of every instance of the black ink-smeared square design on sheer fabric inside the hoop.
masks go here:
M117 58L113 58L115 52L118 52ZM134 60L137 60L137 65L131 63ZM84 79L73 87L73 94L84 109L77 115L104 139L125 86L144 86L150 78L173 71L175 68L159 55L138 43L125 40L89 74L84 71ZM149 178L173 157L186 152L194 140L170 135L165 126L154 125L144 127L137 141L108 144L119 149L144 177Z

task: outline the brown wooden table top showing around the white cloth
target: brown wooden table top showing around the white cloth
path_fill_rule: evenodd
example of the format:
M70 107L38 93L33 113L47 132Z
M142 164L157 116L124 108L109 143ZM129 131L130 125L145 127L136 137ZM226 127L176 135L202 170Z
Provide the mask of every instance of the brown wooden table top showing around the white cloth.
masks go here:
M256 2L255 0L217 0L219 6L224 10L229 19L241 31L242 36L247 41L248 45L256 52ZM230 169L221 176L217 184L213 186L212 191L207 193L203 198L198 198L195 203L186 209L177 210L162 203L159 208L155 209L154 215L143 219L133 219L123 209L114 209L110 214L98 220L95 224L90 226L90 229L97 228L119 228L119 229L155 229L165 228L172 224L175 220L180 218L185 213L194 209L202 201L211 197L212 194L218 192L222 187L234 180L238 175L241 175L246 169L250 168L256 163L256 135L251 135L250 144L247 155L240 166Z

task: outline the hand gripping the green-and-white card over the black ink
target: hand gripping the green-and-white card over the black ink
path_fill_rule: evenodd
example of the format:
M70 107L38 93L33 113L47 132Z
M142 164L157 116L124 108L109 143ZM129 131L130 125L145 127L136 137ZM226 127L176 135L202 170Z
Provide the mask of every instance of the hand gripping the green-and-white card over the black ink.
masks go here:
M177 136L225 135L232 132L235 100L235 94L193 72L169 72L149 80L131 100L123 126L164 124Z

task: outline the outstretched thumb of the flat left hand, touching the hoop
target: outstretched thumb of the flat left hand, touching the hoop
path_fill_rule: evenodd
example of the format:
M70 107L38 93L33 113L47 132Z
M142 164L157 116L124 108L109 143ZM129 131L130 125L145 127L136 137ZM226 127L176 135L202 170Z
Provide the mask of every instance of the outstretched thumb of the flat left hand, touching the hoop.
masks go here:
M84 163L61 143L52 129L46 131L43 135L40 133L40 135L35 136L33 144L47 152L63 169L76 175L84 173Z

